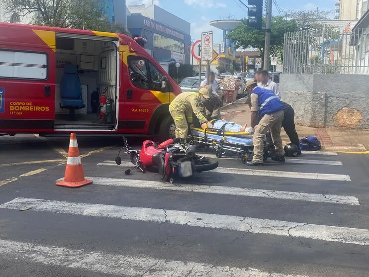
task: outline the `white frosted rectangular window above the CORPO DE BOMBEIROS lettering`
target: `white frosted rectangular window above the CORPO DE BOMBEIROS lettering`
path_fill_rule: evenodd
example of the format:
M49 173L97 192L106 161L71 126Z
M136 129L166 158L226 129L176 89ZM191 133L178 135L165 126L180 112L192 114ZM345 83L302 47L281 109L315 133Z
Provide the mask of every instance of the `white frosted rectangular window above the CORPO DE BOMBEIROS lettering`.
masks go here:
M0 77L47 79L47 55L21 51L0 51Z

